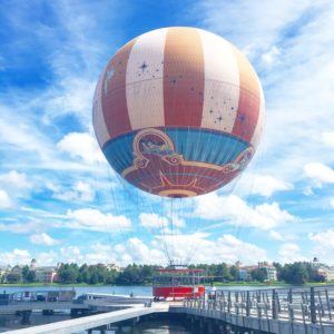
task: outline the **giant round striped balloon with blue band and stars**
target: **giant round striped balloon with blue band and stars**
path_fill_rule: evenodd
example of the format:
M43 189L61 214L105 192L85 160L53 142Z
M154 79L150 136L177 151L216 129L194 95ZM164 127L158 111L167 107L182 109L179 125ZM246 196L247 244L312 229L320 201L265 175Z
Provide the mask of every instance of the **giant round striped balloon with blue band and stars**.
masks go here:
M144 33L110 59L92 122L112 168L145 191L191 197L238 176L258 146L264 97L248 60L196 28Z

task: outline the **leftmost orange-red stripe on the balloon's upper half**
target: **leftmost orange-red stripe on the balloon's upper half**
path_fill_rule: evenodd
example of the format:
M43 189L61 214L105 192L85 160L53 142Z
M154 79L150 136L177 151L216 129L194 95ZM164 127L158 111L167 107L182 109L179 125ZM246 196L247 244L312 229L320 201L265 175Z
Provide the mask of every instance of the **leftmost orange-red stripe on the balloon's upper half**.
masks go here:
M110 139L131 130L126 98L126 71L137 39L125 45L108 63L102 87L102 111Z

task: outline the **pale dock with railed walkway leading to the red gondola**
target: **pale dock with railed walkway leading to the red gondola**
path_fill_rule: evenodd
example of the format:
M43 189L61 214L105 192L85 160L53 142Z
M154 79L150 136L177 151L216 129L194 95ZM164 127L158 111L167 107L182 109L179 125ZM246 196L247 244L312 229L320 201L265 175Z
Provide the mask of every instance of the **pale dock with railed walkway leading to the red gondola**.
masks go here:
M100 296L89 307L111 307L110 296ZM181 320L188 328L205 334L333 334L334 286L217 291L213 299L187 298L183 302L114 304L122 310L80 318L10 331L11 334L104 334L111 324L145 321L147 316ZM130 298L129 298L130 301ZM89 302L89 301L88 301ZM141 301L143 302L143 301ZM87 304L88 305L88 304Z

